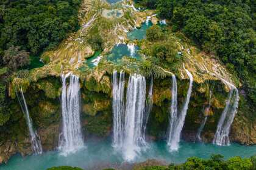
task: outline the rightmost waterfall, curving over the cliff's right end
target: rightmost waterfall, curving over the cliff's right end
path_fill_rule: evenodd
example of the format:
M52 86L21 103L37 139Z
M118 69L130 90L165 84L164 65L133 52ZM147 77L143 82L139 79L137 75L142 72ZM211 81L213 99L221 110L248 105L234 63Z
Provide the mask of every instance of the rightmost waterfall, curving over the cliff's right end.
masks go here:
M239 94L237 88L234 85L224 79L221 80L230 88L230 91L229 97L226 102L226 107L221 113L221 118L218 122L218 127L215 133L215 137L213 139L213 143L221 146L226 146L230 144L229 132L231 124L237 112Z

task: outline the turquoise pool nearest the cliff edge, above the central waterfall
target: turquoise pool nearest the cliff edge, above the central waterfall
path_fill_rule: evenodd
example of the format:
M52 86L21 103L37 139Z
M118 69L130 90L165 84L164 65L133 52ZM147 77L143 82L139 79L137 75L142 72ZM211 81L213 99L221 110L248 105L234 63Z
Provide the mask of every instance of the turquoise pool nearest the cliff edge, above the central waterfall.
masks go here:
M121 59L124 56L128 56L130 58L136 58L137 60L140 60L140 55L138 54L138 50L139 50L138 46L135 46L135 55L131 56L128 46L126 44L118 44L112 49L111 53L107 56L107 59L114 63L120 63Z

